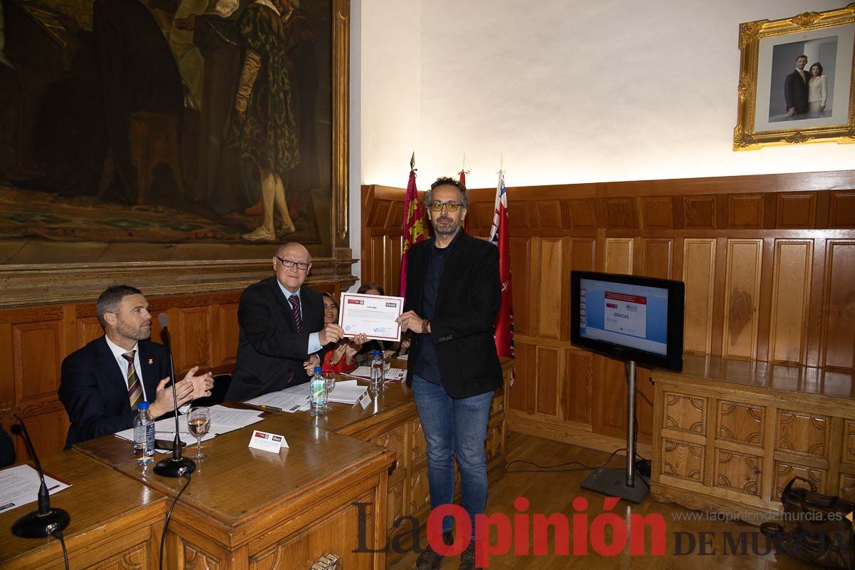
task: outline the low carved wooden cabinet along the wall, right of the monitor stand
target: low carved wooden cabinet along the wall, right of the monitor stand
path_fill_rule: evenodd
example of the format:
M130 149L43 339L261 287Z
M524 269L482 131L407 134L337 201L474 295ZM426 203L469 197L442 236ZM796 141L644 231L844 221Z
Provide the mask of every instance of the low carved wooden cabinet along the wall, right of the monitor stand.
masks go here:
M657 500L759 524L794 477L855 498L852 373L687 356L653 381Z

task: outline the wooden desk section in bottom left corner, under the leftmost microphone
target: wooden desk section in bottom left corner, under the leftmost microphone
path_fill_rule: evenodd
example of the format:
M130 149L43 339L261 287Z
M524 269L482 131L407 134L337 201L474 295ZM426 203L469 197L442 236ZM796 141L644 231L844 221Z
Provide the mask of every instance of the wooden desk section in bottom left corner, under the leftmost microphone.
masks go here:
M74 451L42 462L45 472L71 484L50 497L52 507L71 514L65 530L69 567L156 568L166 498ZM36 502L0 514L0 567L60 568L55 538L18 538L9 530Z

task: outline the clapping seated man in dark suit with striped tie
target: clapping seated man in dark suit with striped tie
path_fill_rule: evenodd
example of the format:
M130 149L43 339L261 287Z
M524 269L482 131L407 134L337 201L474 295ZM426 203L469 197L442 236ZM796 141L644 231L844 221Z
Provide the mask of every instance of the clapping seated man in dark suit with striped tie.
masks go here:
M68 412L66 449L87 439L133 427L140 402L149 402L154 418L174 410L169 382L169 353L147 340L151 334L149 304L138 289L114 285L97 302L104 336L62 361L59 399ZM210 396L210 373L192 367L175 385L178 405Z

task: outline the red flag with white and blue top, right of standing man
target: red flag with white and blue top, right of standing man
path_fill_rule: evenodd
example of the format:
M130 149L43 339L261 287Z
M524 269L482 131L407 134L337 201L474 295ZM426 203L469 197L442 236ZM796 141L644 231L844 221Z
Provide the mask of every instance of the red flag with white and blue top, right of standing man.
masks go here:
M492 214L490 242L498 246L498 275L502 282L502 304L496 315L496 352L498 356L514 356L514 309L510 286L510 235L508 222L508 197L504 187L504 173L498 171L496 205ZM513 382L513 376L511 376Z

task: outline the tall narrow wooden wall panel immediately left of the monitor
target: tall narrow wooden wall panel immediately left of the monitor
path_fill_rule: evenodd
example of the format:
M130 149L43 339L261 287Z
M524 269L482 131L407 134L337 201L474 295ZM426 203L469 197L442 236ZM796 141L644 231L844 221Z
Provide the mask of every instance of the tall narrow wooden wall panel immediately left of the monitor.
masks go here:
M567 320L561 310L561 292L563 289L563 256L560 238L540 238L538 244L537 265L534 272L538 275L537 296L537 336L559 338L562 321Z

